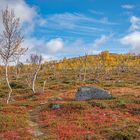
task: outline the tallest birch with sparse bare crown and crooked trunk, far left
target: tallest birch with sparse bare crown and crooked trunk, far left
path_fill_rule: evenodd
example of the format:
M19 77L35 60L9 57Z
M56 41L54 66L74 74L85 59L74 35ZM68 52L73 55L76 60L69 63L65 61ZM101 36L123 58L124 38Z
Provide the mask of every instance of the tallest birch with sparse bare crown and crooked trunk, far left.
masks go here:
M15 17L14 10L7 7L5 10L2 10L1 14L3 32L0 34L0 57L5 65L5 79L9 88L8 104L12 93L8 67L11 62L16 61L18 55L24 52L24 48L21 47L23 36L20 30L20 19Z

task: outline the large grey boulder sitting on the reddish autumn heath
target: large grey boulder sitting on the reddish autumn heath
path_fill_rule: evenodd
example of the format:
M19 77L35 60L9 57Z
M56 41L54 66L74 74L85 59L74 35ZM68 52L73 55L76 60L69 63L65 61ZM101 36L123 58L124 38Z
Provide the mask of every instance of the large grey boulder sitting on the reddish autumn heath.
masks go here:
M75 99L77 101L89 99L108 99L111 97L112 95L109 92L101 88L87 86L80 87L75 95Z

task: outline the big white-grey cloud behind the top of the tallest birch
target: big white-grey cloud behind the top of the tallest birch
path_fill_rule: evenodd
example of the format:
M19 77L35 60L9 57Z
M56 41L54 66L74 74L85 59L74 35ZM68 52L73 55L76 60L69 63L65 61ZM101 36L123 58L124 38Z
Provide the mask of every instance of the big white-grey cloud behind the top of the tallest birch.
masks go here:
M43 26L47 23L37 13L37 9L29 6L25 0L0 0L0 11L4 10L7 6L10 9L14 9L16 17L20 18L21 25L26 27L25 33L33 32L36 25ZM2 27L2 20L0 19L0 28Z

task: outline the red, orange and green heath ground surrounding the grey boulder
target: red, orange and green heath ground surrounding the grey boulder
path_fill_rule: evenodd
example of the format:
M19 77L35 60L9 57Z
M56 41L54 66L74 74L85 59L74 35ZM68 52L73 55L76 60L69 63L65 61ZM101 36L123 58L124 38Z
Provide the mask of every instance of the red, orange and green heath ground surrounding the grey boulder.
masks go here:
M6 83L0 83L1 140L140 140L139 67L89 71L85 81L72 69L51 68L41 69L36 94L25 81L26 72L30 72L27 66L18 79L11 76L13 93L8 105ZM50 75L43 93L43 80ZM75 101L80 86L103 88L113 98Z

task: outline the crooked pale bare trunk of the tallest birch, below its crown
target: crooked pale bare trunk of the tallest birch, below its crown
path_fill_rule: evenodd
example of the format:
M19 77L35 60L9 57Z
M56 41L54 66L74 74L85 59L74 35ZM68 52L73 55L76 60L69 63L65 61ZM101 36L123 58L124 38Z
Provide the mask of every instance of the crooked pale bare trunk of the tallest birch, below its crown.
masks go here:
M5 78L6 78L6 82L7 82L8 88L9 88L8 99L7 99L7 104L8 104L9 101L10 101L10 98L11 98L12 88L11 88L10 83L9 83L8 65L7 64L5 65Z

